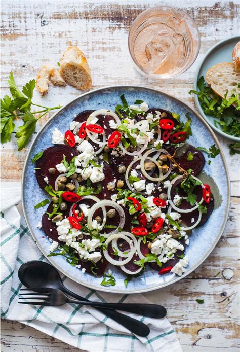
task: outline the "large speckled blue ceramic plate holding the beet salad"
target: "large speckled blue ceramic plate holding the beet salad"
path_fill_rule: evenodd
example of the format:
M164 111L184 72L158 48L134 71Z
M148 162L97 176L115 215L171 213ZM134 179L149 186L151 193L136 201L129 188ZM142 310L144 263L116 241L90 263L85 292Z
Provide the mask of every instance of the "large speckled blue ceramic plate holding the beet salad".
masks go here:
M64 132L73 120L74 115L86 109L109 108L114 110L115 105L119 103L119 96L123 93L129 103L133 103L136 99L141 99L146 101L149 107L159 107L181 114L183 120L185 119L185 114L189 112L192 118L193 132L193 135L189 138L189 143L196 147L204 146L206 148L215 143L221 150L217 138L200 115L180 100L161 91L135 86L106 87L93 90L72 100L39 131L29 150L23 172L22 202L24 216L29 230L36 240L36 244L46 257L49 254L50 242L45 237L44 231L36 226L41 221L47 206L34 210L34 205L45 199L46 194L37 184L33 172L34 164L32 164L31 158L37 152L52 146L52 132L55 127ZM193 230L190 244L186 248L186 254L189 256L189 265L182 277L195 270L214 249L224 230L229 209L229 178L222 151L216 159L212 159L211 165L206 163L204 172L198 177L210 185L215 198L215 209L204 226ZM105 287L100 285L102 278L83 274L81 270L72 267L61 256L49 257L48 260L59 271L77 283L107 292L136 293L151 291L175 283L182 278L175 276L173 273L160 276L157 271L147 268L142 276L130 281L127 288L125 288L125 275L119 270L111 268L116 278L116 285L114 287Z

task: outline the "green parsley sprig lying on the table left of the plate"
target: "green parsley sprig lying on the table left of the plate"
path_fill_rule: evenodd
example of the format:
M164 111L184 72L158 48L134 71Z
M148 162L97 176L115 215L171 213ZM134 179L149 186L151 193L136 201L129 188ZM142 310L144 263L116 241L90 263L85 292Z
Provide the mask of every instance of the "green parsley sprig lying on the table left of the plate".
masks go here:
M31 80L22 87L20 91L13 78L13 72L9 75L9 89L12 97L5 95L1 100L1 143L7 143L15 129L14 120L22 119L23 125L17 128L16 138L18 150L22 150L28 143L35 131L37 121L51 110L60 109L61 106L48 108L32 102L35 80ZM42 108L39 111L31 112L31 107ZM34 117L34 114L41 114Z

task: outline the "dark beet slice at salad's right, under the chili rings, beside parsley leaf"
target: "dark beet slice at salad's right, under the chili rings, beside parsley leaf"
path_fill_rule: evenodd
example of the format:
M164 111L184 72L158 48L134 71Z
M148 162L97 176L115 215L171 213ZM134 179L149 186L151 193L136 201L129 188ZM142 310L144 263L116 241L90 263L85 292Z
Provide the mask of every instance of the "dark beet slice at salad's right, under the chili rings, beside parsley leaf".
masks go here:
M173 155L176 147L171 145L166 145L165 149L171 155ZM187 160L189 153L193 154L193 160ZM205 158L203 153L191 145L189 145L188 151L181 158L176 158L175 160L184 170L187 171L189 169L192 169L192 174L194 176L196 176L199 172L203 170L204 164L205 164ZM175 169L174 171L176 173L179 173L178 169Z

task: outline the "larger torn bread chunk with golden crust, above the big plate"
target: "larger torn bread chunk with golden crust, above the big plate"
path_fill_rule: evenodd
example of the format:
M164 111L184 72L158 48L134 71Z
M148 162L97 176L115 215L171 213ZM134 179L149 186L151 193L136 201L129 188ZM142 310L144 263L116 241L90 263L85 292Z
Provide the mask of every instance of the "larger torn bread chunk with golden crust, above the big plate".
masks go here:
M65 82L77 89L87 89L92 85L87 59L76 46L68 47L63 54L60 75Z

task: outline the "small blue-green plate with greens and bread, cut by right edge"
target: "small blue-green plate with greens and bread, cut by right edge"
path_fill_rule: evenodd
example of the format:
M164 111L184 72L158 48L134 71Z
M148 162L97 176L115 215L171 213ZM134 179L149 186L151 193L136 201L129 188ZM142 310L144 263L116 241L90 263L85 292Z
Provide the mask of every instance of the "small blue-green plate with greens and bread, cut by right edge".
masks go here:
M240 41L240 36L231 37L231 38L225 39L225 40L215 44L211 49L209 49L209 51L203 57L202 61L200 62L199 66L196 69L196 74L195 74L195 79L194 79L194 89L195 90L199 90L197 88L197 81L201 76L205 77L206 72L208 71L209 68L211 68L221 62L232 62L232 50L233 50L234 46L236 45L236 43L239 41ZM204 111L201 108L201 105L198 101L197 95L195 95L195 103L196 103L196 106L197 106L199 113L203 116L203 118L207 121L207 123L216 132L218 132L219 134L221 134L222 136L224 136L228 139L234 140L234 142L240 142L239 137L234 137L230 134L222 132L220 128L217 128L214 125L214 120L217 120L217 118L204 113Z

